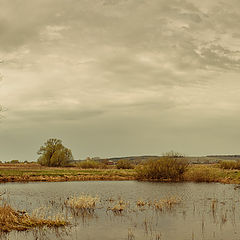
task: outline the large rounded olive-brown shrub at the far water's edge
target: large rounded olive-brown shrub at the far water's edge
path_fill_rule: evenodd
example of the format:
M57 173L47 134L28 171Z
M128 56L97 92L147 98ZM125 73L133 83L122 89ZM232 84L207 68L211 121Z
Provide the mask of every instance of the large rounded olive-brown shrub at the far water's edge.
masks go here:
M188 161L178 153L167 153L159 159L150 159L137 168L138 179L180 180Z

